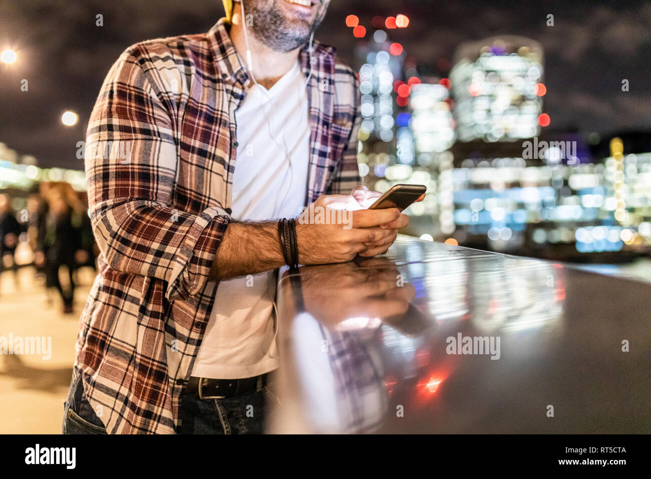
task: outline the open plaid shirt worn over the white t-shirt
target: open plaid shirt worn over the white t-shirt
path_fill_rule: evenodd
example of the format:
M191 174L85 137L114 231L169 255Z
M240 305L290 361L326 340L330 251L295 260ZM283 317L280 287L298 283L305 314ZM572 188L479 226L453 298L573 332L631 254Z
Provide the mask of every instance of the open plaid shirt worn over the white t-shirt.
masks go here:
M249 83L227 29L221 19L206 34L128 48L90 117L85 163L102 255L75 366L109 433L176 431L210 318L208 272L230 221L234 112ZM299 61L307 78L307 48ZM307 100L306 204L359 182L357 78L318 42Z

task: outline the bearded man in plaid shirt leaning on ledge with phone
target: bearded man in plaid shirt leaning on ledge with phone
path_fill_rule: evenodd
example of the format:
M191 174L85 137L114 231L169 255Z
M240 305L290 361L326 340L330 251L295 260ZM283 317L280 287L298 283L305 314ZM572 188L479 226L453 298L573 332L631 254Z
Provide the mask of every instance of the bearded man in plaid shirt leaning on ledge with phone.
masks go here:
M311 44L328 3L225 1L207 34L135 44L111 68L86 152L100 274L64 432L261 432L277 368L269 271L287 262L273 218L353 210L350 228L296 225L303 265L381 254L408 224L359 210L365 188L350 196L357 81Z

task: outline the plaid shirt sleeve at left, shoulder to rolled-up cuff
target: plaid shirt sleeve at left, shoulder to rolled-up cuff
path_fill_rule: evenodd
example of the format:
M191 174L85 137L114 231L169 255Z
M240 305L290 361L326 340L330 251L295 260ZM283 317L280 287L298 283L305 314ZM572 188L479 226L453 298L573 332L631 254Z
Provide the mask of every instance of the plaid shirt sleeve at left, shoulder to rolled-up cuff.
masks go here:
M111 269L167 282L167 299L201 291L230 216L173 205L178 161L174 95L142 55L113 65L85 145L93 233Z

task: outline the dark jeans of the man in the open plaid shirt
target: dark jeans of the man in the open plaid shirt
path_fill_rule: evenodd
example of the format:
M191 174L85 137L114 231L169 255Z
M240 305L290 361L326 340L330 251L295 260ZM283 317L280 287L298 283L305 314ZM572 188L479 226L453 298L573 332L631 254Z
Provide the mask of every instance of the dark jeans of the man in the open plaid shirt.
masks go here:
M262 434L265 409L275 396L266 386L224 399L199 399L181 393L179 434ZM83 394L81 375L72 373L70 394L63 407L64 434L106 434L102 420Z

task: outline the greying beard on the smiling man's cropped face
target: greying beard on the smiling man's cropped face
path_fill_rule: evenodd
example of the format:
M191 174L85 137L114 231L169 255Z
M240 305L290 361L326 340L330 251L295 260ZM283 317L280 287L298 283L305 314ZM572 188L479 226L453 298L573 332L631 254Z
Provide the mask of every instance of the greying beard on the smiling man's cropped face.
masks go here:
M294 13L288 17L279 6L284 0L241 1L244 2L246 16L253 20L253 25L250 25L246 18L243 19L246 28L253 30L253 35L271 50L283 53L307 43L311 33L321 25L329 3L329 0L322 1L314 20L311 20L311 14ZM270 2L271 6L268 7ZM249 17L249 14L252 16Z

